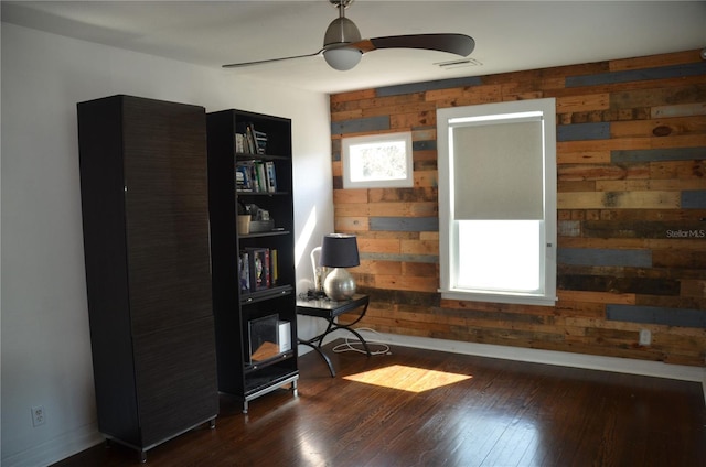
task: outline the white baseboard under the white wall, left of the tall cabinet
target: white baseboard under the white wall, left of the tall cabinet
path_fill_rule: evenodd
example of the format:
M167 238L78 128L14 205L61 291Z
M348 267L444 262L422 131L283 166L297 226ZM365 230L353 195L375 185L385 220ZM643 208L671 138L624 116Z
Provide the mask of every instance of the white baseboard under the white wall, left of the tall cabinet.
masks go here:
M3 467L50 466L62 459L105 442L98 425L92 423L33 446L30 449L2 458Z

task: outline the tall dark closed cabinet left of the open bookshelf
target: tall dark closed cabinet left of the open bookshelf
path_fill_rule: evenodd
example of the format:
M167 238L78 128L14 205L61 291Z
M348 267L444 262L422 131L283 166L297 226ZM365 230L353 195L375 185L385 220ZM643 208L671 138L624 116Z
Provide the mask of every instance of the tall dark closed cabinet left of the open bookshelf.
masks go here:
M77 105L99 431L140 452L218 412L203 107Z

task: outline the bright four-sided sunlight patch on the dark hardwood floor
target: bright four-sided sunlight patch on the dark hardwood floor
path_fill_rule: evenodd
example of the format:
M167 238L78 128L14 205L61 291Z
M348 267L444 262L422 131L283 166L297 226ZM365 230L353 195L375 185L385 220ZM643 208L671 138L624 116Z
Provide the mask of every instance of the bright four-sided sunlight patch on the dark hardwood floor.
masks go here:
M376 370L351 374L343 379L383 388L399 389L409 392L424 392L442 385L453 384L473 378L468 374L449 373L447 371L427 370L424 368L393 365Z

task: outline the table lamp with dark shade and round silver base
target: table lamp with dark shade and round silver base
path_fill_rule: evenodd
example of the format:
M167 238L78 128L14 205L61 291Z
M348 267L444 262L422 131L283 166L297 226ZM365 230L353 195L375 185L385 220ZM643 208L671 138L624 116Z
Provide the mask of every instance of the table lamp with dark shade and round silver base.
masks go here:
M355 280L345 268L361 264L354 235L329 234L321 243L319 263L333 268L323 281L323 292L334 301L349 300L355 293Z

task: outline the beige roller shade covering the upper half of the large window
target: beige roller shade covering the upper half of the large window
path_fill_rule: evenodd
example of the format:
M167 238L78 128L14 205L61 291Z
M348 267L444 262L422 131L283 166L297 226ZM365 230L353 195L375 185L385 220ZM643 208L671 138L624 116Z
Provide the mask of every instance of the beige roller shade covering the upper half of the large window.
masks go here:
M544 218L542 120L452 127L457 220Z

